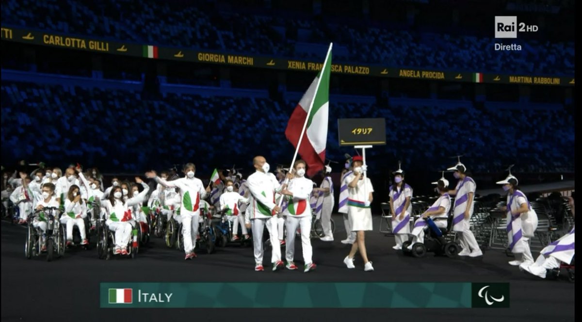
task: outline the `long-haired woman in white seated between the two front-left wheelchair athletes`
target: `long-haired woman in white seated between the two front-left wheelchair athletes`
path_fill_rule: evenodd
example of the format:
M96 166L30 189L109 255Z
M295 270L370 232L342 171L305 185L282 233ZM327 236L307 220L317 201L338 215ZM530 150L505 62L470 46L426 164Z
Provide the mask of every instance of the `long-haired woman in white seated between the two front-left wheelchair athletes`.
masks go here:
M87 218L87 204L81 199L79 187L70 187L65 197L65 213L61 216L61 224L65 225L67 231L67 245L73 242L73 227L79 228L81 234L81 245L87 245L87 235L85 232L85 221Z

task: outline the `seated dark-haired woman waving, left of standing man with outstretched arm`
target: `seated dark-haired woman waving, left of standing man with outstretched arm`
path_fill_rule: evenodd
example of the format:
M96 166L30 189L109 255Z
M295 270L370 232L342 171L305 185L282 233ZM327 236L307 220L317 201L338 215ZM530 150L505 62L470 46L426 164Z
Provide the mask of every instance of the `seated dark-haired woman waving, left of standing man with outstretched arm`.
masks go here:
M132 230L135 225L135 219L132 215L131 208L135 204L143 202L145 195L150 187L140 178L136 182L144 187L144 190L137 196L125 200L120 186L111 189L109 199L102 200L101 204L105 207L105 224L111 231L115 231L115 250L114 254L128 254L127 245L132 237Z

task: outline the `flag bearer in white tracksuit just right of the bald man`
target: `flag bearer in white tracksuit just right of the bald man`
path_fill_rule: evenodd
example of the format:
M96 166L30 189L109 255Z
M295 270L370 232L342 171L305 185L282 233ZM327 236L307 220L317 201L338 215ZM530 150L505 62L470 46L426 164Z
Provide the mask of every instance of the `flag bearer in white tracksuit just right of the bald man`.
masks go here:
M283 215L286 216L285 225L288 231L286 238L285 259L286 267L289 270L296 270L294 264L295 255L295 233L297 227L301 231L301 248L303 249L303 260L305 263L304 272L315 270L315 264L311 260L313 256L313 247L311 247L311 207L308 204L309 197L313 190L313 181L305 178L306 163L303 160L297 160L294 164L295 176L289 182L287 189L282 190L281 194L288 199L288 206ZM292 177L292 175L289 175Z

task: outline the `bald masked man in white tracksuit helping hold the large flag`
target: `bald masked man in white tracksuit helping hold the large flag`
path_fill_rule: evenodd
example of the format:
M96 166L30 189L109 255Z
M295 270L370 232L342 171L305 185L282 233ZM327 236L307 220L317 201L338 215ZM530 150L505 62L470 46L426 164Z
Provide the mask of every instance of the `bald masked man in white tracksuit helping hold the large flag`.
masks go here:
M278 270L283 267L284 263L281 260L281 243L279 243L278 218L276 216L281 211L281 207L275 204L275 193L276 190L285 188L285 185L278 187L275 175L269 174L269 164L264 157L260 155L254 157L253 166L256 172L247 179L250 198L245 220L246 224L251 225L253 229L255 271L264 270L262 266L262 233L265 225L271 238L272 269Z

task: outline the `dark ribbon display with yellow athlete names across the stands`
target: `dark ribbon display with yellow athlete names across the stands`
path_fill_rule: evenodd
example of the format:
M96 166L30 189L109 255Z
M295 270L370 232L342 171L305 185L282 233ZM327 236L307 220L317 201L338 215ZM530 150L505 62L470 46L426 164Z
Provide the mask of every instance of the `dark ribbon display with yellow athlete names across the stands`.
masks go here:
M119 40L111 41L12 26L2 26L0 34L2 40L7 41L134 57L148 57L148 45L152 45L128 43ZM299 70L305 72L319 71L323 65L321 61L304 61L301 59L281 58L280 56L254 55L240 52L221 52L213 51L211 49L200 50L152 46L152 48L154 47L155 50L152 49L152 52L156 52L157 55L153 55L150 57L151 59ZM494 52L493 47L490 49ZM447 82L574 86L574 76L502 75L492 73L484 74L479 72L459 73L449 70L394 68L384 66L382 65L382 62L378 62L377 64L332 63L331 72L347 75L391 77L400 79L443 80Z

